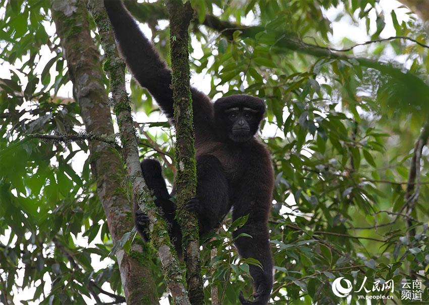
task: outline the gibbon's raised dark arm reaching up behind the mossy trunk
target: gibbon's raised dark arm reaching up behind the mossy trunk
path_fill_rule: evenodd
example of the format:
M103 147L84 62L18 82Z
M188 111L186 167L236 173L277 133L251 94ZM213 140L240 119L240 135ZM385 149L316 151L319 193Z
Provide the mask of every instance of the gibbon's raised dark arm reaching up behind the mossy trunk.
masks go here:
M112 23L121 53L135 79L142 87L149 90L167 117L173 119L170 69L159 58L152 43L140 31L137 23L120 0L104 0L104 7ZM208 127L213 121L210 100L195 88L191 88L191 93L195 129Z

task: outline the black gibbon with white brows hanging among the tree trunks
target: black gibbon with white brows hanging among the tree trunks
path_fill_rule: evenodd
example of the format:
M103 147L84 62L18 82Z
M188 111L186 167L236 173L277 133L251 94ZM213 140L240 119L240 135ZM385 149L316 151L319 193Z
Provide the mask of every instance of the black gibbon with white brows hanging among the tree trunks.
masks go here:
M120 1L105 0L104 5L128 67L141 86L147 88L167 117L173 121L171 74L159 58L151 42L142 34L136 22ZM214 104L195 88L191 88L194 113L195 148L197 158L197 195L187 208L195 211L200 233L217 227L232 208L233 220L249 215L247 223L233 236L240 237L235 245L243 258L258 260L263 269L250 265L253 277L253 300L243 304L266 304L273 287L273 261L269 244L267 220L274 187L274 172L269 151L254 135L265 112L260 98L239 94L218 99ZM156 160L141 163L143 177L156 197L167 221L178 253L181 232L175 220L176 207L170 201L162 169ZM135 207L136 227L147 239L147 216Z

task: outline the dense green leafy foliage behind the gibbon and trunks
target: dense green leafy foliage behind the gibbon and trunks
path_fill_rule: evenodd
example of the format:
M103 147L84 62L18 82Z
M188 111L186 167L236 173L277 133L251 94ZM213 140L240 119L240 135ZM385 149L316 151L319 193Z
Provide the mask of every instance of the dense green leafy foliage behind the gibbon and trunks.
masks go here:
M121 294L116 261L107 260L107 267L97 262L114 258L116 248L127 250L139 237L133 239L132 232L112 243L90 170L91 158L97 156L77 170L72 162L86 158L81 152L88 151L87 143L29 137L82 130L78 104L57 96L70 76L59 39L46 32L51 23L49 3L0 3L6 8L0 20L0 58L13 65L10 77L0 79L1 293L24 289L28 297L22 303L85 303L82 295L90 297L88 282L93 279ZM411 184L418 198L409 215L404 207L409 203L406 187L414 144L428 119L428 48L405 39L370 43L355 53L330 54L324 48L333 45L326 14L332 7L339 8L336 20L344 18L350 27L365 24L371 40L380 39L386 22L393 22L396 35L427 45L427 22L424 25L404 8L387 14L373 0L192 4L198 20L191 27L191 52L201 46L203 55L192 58L191 67L211 76L210 97L245 92L267 101L262 139L276 171L270 221L276 266L272 300L345 303L332 293L332 281L343 276L360 284L366 276L367 283L393 279L399 303L406 303L400 300L401 280L421 280L422 303L429 302L426 147L417 173L420 183ZM163 4L128 5L149 25L156 48L168 58L168 31L158 25L166 19ZM407 21L397 17L404 11ZM201 25L206 14L238 24L251 21L253 27L213 29ZM353 38L345 38L342 45L362 42ZM43 49L43 56L49 49L52 59L40 67L39 62L46 62L41 60ZM400 62L387 63L395 57ZM134 80L131 97L135 111L148 115L158 111ZM141 156L163 160L172 181L169 156L174 155L174 137L168 126L139 124L139 148ZM255 262L240 261L232 243L224 242L234 228L230 225L227 217L217 232L219 238L203 245L207 302L213 285L223 304L237 303L239 290L251 294L248 264ZM218 250L215 257L210 257L212 247ZM161 296L166 287L157 257L152 257ZM358 294L351 295L352 302Z

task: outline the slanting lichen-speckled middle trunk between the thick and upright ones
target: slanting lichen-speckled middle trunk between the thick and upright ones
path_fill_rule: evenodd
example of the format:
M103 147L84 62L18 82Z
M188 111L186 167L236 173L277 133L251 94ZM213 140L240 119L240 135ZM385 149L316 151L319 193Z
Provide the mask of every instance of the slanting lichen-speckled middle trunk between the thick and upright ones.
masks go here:
M101 46L105 52L104 69L110 79L112 106L116 114L121 142L122 156L127 165L128 177L133 187L134 200L149 217L150 240L163 265L163 274L172 293L175 304L188 305L189 298L184 285L182 270L174 247L170 241L167 224L155 206L140 168L138 140L131 116L131 107L125 89L125 63L116 48L112 26L101 0L92 0L90 8L100 34Z

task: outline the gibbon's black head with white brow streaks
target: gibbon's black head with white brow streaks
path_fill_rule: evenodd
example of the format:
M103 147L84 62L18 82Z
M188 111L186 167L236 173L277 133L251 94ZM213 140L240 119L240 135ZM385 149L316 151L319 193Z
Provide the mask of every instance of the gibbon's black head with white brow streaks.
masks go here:
M236 94L215 102L216 128L223 138L242 143L253 138L265 113L261 98Z

